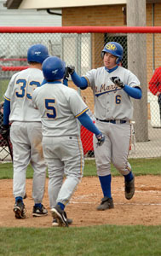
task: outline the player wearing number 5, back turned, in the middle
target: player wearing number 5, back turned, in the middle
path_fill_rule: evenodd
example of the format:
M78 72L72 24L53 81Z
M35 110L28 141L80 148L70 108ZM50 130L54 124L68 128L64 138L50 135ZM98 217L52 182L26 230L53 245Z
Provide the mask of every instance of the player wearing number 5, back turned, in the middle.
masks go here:
M68 226L65 207L83 177L83 147L77 119L95 133L97 147L104 136L89 118L87 105L77 90L61 84L65 62L50 56L43 61L47 83L34 90L32 102L38 108L43 125L43 155L49 172L49 203L59 226ZM64 175L66 180L63 183ZM55 223L54 223L55 225Z

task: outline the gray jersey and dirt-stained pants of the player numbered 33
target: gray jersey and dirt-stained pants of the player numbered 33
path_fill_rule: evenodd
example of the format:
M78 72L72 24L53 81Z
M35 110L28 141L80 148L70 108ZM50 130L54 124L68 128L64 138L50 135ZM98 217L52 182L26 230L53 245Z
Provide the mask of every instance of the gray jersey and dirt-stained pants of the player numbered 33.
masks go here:
M32 92L43 81L43 73L28 68L15 73L10 79L4 98L10 101L9 121L12 122L10 139L14 153L14 197L26 194L26 168L31 161L34 171L32 198L43 201L46 164L42 149L40 113L32 105Z

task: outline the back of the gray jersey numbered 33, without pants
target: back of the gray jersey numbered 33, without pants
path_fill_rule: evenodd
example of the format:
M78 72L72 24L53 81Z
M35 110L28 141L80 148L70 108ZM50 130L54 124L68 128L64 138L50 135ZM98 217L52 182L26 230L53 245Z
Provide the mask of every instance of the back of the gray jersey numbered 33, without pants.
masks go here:
M32 92L42 81L43 73L37 68L14 74L4 95L10 99L10 121L40 121L40 113L32 105Z

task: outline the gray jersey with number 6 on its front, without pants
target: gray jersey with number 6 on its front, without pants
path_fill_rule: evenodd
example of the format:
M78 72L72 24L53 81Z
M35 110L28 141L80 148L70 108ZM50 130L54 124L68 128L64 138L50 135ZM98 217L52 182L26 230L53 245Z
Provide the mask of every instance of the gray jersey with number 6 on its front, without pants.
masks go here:
M105 67L92 69L84 76L95 96L95 118L132 119L133 106L128 94L112 83L111 77L119 77L124 84L140 87L135 74L124 67L108 73Z

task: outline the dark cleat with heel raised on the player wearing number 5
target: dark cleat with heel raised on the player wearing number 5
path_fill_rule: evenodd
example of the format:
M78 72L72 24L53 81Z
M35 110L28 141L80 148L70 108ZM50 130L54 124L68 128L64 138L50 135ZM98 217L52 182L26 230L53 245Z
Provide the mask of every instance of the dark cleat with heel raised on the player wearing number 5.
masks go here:
M61 210L59 205L51 209L51 214L56 219L59 227L68 227L66 212Z

